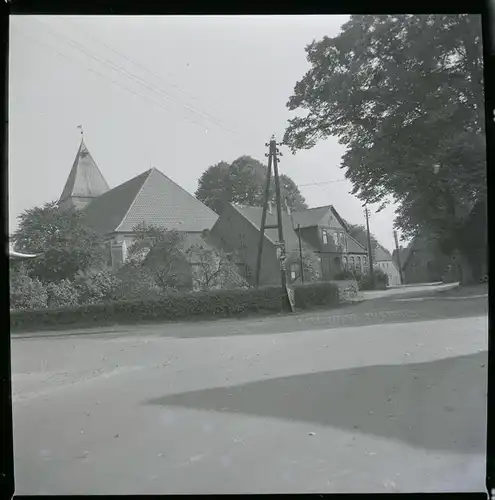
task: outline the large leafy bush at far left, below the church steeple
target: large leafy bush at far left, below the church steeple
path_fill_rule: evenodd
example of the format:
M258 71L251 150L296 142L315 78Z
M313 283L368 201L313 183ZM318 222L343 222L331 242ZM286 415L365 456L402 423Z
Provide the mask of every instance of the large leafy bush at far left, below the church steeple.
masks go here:
M86 225L84 215L61 210L56 202L23 212L13 241L20 252L42 254L27 261L26 269L43 282L72 280L104 260L103 240Z

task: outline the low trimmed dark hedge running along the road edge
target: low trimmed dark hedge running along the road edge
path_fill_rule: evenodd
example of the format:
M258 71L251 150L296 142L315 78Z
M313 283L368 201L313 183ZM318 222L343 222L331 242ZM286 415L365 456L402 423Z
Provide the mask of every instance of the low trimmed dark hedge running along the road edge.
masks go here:
M339 302L338 286L332 283L298 285L296 307L333 306ZM58 329L60 327L132 324L194 318L229 317L249 313L289 310L286 294L279 286L256 289L212 290L171 295L158 300L115 301L64 309L13 311L12 332Z

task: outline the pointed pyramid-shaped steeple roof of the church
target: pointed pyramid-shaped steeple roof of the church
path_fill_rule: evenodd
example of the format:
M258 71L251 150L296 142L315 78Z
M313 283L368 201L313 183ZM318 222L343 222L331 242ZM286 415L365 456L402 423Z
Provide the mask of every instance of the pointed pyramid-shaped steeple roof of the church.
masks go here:
M81 140L59 202L72 197L96 198L108 189L107 181L89 153L84 140Z

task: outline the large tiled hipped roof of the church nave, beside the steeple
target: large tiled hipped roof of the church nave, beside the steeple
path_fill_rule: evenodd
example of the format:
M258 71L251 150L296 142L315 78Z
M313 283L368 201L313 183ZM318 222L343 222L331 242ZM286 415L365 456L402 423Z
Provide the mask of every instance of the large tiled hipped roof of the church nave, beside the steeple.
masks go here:
M166 229L201 232L218 215L156 168L95 198L84 209L87 222L104 234L130 233L146 222Z

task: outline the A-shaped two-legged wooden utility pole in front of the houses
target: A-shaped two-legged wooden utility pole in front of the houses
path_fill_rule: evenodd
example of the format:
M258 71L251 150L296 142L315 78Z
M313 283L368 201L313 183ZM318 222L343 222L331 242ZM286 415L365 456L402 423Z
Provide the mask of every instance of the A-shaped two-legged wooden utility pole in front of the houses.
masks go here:
M287 285L287 275L285 272L285 243L284 243L284 232L282 228L282 200L280 197L280 180L278 175L278 156L282 156L282 153L278 150L277 144L275 142L275 136L272 135L270 142L266 143L265 146L268 147L268 173L266 176L265 185L265 197L263 201L263 212L261 214L261 227L260 227L260 240L258 244L258 258L256 261L256 288L259 287L260 274L261 274L261 257L263 254L263 240L265 237L265 229L278 229L278 247L280 248L280 278L282 284L282 291L286 294ZM277 205L277 224L267 225L266 224L266 212L268 207L268 201L270 197L270 181L271 181L271 170L273 165L273 176L275 178L275 203Z

